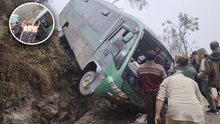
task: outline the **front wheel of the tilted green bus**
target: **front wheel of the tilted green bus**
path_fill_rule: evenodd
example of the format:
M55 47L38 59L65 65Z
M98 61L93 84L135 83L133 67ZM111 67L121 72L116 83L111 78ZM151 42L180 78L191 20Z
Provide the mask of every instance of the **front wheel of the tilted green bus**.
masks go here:
M79 91L82 95L87 96L91 94L90 84L94 81L94 77L94 71L88 71L83 75L79 83Z

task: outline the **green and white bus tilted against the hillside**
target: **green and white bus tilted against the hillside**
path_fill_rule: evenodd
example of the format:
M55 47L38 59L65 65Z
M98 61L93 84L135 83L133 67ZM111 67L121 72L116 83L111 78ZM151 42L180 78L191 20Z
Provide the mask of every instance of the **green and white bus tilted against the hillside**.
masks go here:
M173 58L139 19L103 0L70 0L59 15L59 37L66 39L85 73L79 83L81 94L95 94L144 108L136 81L138 64L154 50L164 59L168 72Z

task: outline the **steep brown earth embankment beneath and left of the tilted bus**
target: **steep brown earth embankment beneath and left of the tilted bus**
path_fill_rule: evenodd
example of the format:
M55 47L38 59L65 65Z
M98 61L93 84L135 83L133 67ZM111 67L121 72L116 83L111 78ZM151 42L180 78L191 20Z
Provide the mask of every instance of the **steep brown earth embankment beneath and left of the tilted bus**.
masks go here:
M0 40L3 124L129 124L138 111L78 89L82 72L58 31L45 43Z

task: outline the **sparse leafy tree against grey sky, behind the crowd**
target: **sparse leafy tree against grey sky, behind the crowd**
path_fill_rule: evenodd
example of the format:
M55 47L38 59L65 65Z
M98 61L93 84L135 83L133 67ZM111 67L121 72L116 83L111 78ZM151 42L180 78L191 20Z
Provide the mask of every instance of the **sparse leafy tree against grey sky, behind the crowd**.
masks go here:
M199 18L188 17L188 14L182 14L181 12L178 18L179 23L177 25L170 20L162 24L162 26L166 25L166 27L163 29L164 34L161 39L172 55L182 53L188 56L196 41L189 42L187 37L190 35L190 32L199 30Z

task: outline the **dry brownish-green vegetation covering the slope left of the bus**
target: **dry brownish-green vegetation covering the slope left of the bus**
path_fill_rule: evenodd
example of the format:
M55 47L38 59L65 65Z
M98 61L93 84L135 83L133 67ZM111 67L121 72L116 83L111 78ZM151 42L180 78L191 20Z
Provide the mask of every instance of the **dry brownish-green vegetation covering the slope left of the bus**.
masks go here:
M43 95L60 89L59 78L65 73L61 71L62 66L72 62L66 53L60 52L57 32L53 39L35 46L22 44L11 35L8 29L10 14L17 6L30 1L33 0L0 1L3 12L0 14L0 123L8 107L19 107L27 96L34 94L38 101ZM74 69L72 65L67 66ZM36 123L40 123L41 117L37 117Z

